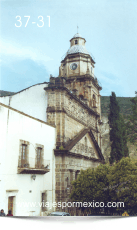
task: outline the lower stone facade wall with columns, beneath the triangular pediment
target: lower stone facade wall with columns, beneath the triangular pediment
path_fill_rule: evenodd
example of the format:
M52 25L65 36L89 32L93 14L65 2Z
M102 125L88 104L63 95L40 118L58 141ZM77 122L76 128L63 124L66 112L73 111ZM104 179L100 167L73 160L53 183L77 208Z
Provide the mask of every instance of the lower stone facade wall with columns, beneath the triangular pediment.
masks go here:
M80 173L80 170L94 168L99 165L99 162L94 162L89 159L79 158L72 155L57 155L55 162L56 171L56 203L70 201L69 195L72 190L71 182L75 180ZM62 210L57 207L56 210ZM68 210L67 208L65 209Z

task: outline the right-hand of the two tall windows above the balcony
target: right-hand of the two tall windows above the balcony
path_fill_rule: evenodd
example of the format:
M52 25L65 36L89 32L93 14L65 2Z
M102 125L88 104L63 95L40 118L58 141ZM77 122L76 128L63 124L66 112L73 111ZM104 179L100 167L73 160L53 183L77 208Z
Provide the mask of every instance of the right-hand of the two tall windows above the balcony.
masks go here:
M44 146L40 144L36 144L36 168L43 168L44 167Z

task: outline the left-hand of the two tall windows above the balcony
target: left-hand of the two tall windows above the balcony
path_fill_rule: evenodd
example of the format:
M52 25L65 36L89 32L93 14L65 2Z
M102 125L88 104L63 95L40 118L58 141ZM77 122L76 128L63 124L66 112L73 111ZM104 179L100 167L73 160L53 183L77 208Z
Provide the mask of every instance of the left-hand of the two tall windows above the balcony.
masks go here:
M29 167L29 142L25 140L20 140L20 146L19 146L19 162L18 166L22 168Z

